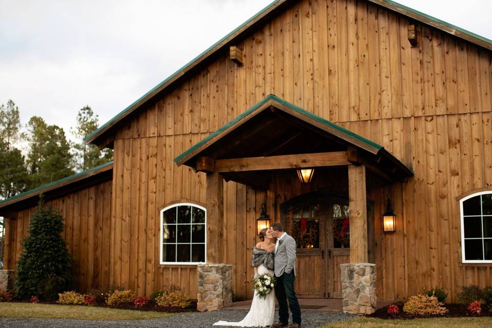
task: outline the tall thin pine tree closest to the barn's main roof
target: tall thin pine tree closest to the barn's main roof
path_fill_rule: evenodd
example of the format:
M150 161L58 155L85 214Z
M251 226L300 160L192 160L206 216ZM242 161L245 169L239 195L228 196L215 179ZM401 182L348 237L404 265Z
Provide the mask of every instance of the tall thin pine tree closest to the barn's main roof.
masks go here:
M81 108L77 113L77 124L72 133L78 140L83 140L97 130L98 116L89 106ZM77 156L77 171L85 171L113 160L111 149L100 150L97 146L86 144L84 141L73 144Z

